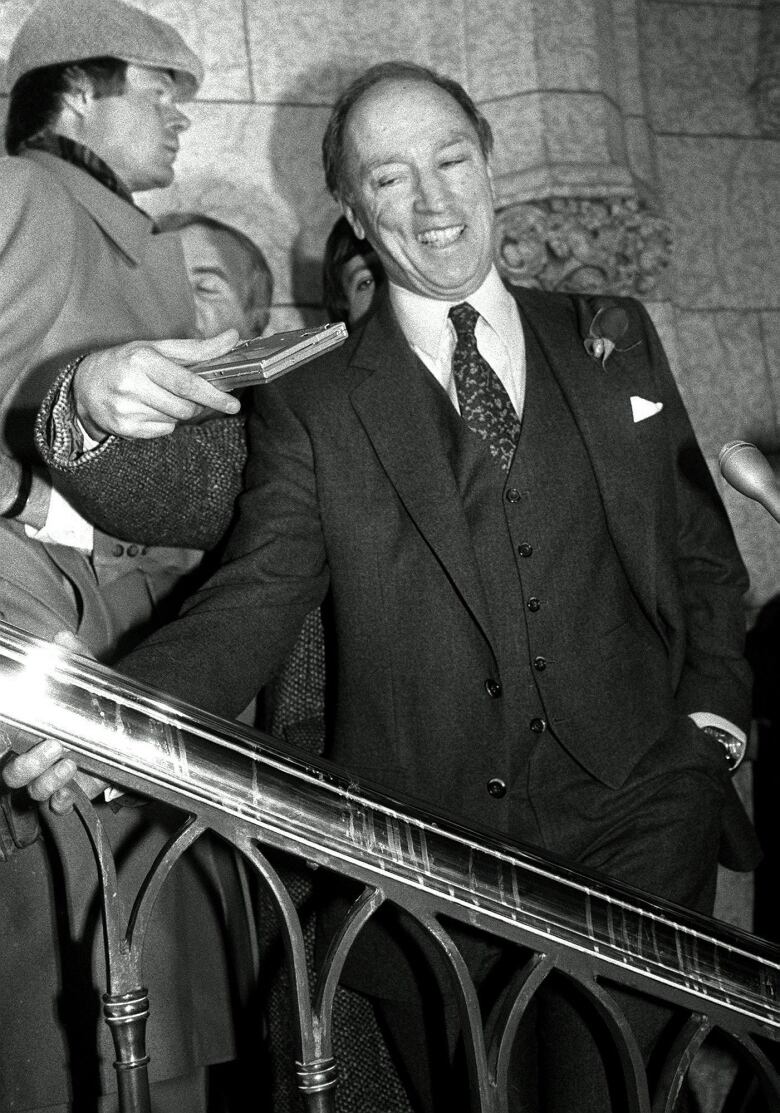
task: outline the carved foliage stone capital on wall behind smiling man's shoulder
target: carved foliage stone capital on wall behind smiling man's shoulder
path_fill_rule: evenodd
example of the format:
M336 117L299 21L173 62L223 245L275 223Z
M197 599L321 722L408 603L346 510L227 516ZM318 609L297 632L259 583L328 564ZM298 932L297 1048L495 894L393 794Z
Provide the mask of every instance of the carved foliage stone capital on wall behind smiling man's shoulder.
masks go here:
M523 201L496 214L495 255L512 283L582 294L653 290L671 229L634 197Z

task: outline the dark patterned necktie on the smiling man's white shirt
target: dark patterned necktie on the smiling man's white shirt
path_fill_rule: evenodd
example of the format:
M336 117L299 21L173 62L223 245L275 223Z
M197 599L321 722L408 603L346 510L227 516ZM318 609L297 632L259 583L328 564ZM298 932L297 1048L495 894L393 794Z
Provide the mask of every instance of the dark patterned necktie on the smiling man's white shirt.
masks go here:
M457 336L452 370L461 416L507 472L520 436L520 417L503 383L480 355L474 334L480 314L474 306L467 302L453 305L450 319Z

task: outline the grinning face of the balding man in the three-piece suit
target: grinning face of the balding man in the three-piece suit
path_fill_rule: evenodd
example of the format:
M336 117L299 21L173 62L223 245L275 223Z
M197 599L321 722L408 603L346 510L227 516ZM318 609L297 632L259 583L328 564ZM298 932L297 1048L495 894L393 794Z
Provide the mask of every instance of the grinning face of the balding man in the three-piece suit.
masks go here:
M414 82L381 82L355 102L338 188L391 283L452 303L493 264L490 132L445 88L417 92Z

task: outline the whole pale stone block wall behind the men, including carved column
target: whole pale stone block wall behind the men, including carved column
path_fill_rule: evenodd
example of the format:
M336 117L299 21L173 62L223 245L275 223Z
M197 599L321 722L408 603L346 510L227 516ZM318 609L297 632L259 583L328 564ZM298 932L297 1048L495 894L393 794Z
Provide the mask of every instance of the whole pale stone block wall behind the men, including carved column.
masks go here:
M136 2L207 70L177 184L140 203L257 239L274 327L322 318L334 97L366 65L412 58L462 80L494 126L497 246L521 280L565 287L579 268L585 288L639 294L713 466L735 437L780 452L777 0ZM0 0L0 59L32 3ZM778 530L723 493L754 613L780 590Z

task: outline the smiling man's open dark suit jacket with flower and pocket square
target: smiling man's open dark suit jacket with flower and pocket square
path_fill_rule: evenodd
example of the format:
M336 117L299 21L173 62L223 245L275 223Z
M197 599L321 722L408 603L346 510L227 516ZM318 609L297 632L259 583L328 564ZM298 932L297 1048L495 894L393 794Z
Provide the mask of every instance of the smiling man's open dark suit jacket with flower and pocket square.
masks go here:
M583 346L596 299L516 297L571 406L631 587L668 647L677 709L747 726L747 579L646 313L621 303L630 351L602 366ZM516 722L485 693L485 679L501 678L495 613L426 376L385 304L343 348L258 390L227 560L121 668L235 715L329 595L332 756L356 777L484 820L484 782L470 774L482 750L511 745ZM632 395L663 408L635 423ZM629 738L611 730L611 709L635 692L615 689L608 670L573 668L559 683L573 703L577 687L608 693L598 736L582 723L574 746L596 777L620 782L665 723Z

